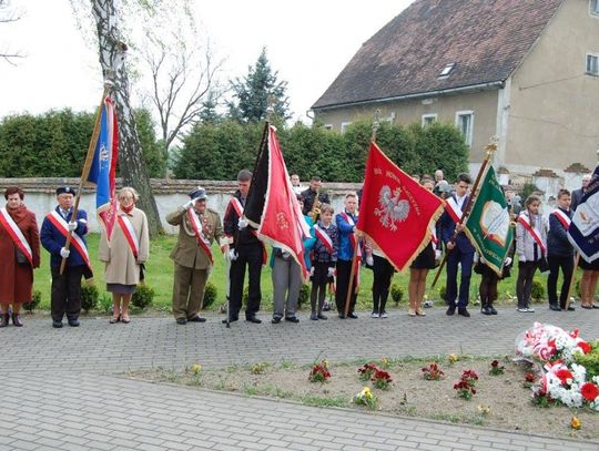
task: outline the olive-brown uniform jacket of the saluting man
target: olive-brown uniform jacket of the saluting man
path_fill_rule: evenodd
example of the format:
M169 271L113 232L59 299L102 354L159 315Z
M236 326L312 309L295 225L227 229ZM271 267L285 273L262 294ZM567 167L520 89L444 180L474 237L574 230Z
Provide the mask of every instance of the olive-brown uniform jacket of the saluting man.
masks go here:
M191 211L194 214L197 214L193 208ZM202 232L210 244L212 245L214 239L219 239L219 242L222 243L224 234L219 213L212 208L206 208L206 211L199 216L200 224L202 224ZM187 268L210 268L212 266L210 256L197 244L197 238L193 232L190 218L187 217L187 211L183 207L179 207L176 212L166 215L166 222L171 225L179 226L176 245L171 252L171 258L174 263Z

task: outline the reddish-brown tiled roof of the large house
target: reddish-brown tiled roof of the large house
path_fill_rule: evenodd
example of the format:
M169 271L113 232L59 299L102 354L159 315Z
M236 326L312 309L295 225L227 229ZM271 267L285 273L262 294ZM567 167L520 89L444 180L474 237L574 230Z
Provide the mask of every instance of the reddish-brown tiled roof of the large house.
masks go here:
M502 82L562 1L416 0L362 45L313 107Z

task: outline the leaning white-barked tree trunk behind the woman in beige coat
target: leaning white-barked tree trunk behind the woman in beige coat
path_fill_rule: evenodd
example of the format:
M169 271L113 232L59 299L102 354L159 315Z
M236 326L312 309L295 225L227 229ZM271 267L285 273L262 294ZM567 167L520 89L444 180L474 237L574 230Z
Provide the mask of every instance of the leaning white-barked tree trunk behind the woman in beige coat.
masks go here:
M98 28L100 64L104 82L112 83L111 96L116 105L119 122L119 167L123 185L134 187L140 194L136 206L145 212L150 235L162 233L156 202L152 194L145 168L133 110L129 102L129 76L123 65L126 45L121 41L118 11L114 0L91 0Z

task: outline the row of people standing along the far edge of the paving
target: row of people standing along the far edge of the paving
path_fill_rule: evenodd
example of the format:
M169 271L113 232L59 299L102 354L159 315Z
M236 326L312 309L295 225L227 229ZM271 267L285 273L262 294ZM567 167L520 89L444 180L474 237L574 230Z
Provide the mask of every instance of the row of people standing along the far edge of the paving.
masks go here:
M519 214L515 214L516 239L505 263L501 276L475 258L475 247L464 233L460 217L468 205L471 180L460 174L455 191L435 174L435 180L423 178L424 188L443 197L446 208L438 223L430 225L430 242L410 266L408 315L425 316L423 301L428 273L438 266L441 252L447 253L447 285L445 301L448 316L457 314L469 317L470 279L473 269L481 275L479 294L481 312L497 315L493 304L497 299L497 284L509 274L511 260L518 256L516 293L518 311L531 312L530 293L537 269L549 270L547 293L551 310L573 310L568 303L570 280L575 269L575 250L567 237L572 212L590 176L585 176L582 187L572 195L561 189L557 207L548 219L540 214L540 198L530 195ZM244 300L244 281L247 271L245 320L260 324L257 317L262 300L262 266L267 262L264 243L256 229L244 219L244 207L250 192L252 173L243 170L237 174L237 189L231 197L223 221L219 213L207 206L207 193L197 187L190 199L166 216L166 222L179 226L175 247L171 253L174 263L172 311L177 325L203 322L200 316L204 290L214 265L212 245L216 240L227 262L227 318L223 322L240 319ZM296 181L298 183L298 180ZM7 205L0 209L0 327L11 321L21 327L20 308L31 300L33 269L40 265L40 243L50 253L52 275L51 315L54 328L63 327L63 318L71 327L79 326L81 311L81 280L93 277L87 249L87 214L74 208L77 195L70 186L57 189L57 207L43 219L38 233L35 215L24 206L24 193L19 187L4 191ZM149 258L149 227L145 214L135 207L138 194L131 187L118 193L116 221L109 235L103 229L100 238L99 259L104 263L106 290L112 294L113 315L110 324L131 321L129 305L135 287L144 279L144 264ZM572 204L573 199L573 204ZM343 211L335 214L326 194L321 193L321 180L313 177L309 186L297 192L297 202L304 214L309 234L304 236L306 267L309 268L312 320L326 320L325 298L334 286L335 304L339 318L355 319L357 287L362 266L370 268L373 278L373 318L386 318L386 303L394 275L393 265L377 247L362 239L356 232L358 194L344 196ZM572 204L572 205L571 205ZM518 212L516 212L518 213ZM358 258L355 259L354 255ZM353 267L353 264L358 265ZM270 265L273 278L272 322L282 320L298 322L296 316L302 286L301 266L284 249L273 248ZM599 278L599 260L580 259L583 276L580 283L581 307L599 308L593 304ZM559 273L564 280L557 296ZM458 285L458 273L460 279ZM353 279L352 279L353 275ZM349 288L352 287L352 288ZM349 289L352 293L348 294Z

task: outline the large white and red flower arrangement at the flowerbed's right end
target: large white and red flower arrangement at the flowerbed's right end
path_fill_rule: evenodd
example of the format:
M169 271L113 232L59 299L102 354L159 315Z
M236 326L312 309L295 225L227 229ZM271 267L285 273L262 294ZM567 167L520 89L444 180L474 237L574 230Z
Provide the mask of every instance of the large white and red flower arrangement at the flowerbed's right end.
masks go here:
M599 376L587 378L587 368L577 357L592 351L592 346L578 335L578 329L564 329L535 322L516 342L516 356L538 363L539 378L532 385L540 404L562 403L568 407L588 404L599 411ZM591 373L592 375L592 373ZM527 381L529 381L527 377Z

